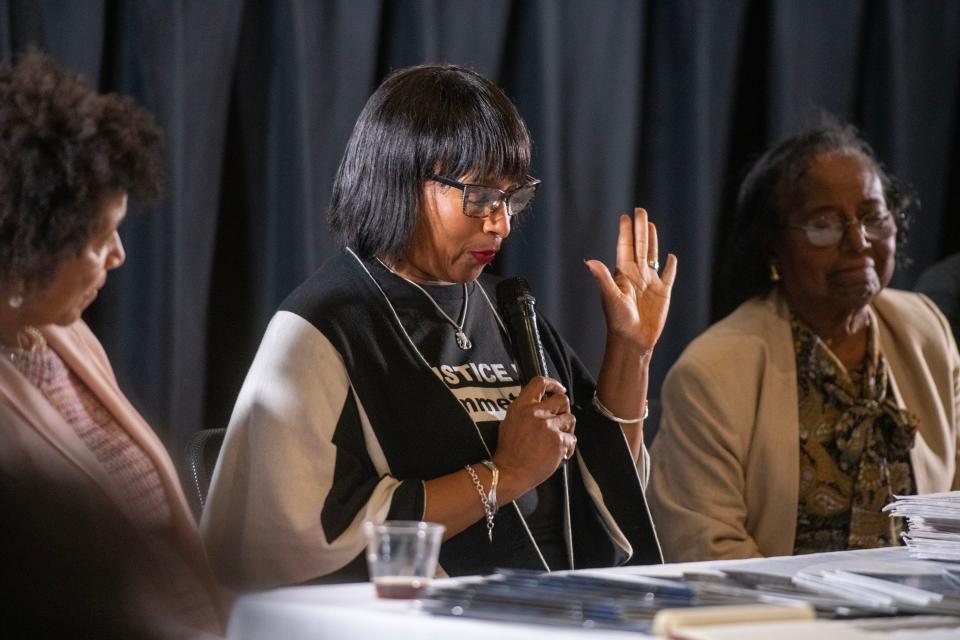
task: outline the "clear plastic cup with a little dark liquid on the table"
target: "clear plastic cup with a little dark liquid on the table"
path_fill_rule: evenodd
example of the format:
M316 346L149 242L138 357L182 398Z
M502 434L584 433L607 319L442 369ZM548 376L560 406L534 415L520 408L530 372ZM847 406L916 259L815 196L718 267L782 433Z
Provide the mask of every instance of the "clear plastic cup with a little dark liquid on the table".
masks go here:
M436 574L444 526L434 522L365 522L367 567L381 598L416 598Z

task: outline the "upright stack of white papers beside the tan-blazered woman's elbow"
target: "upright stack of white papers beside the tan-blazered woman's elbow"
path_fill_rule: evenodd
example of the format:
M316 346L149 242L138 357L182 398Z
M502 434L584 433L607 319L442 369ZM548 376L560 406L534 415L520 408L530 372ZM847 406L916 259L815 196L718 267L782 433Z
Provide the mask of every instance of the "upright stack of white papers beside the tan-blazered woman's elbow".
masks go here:
M884 511L907 518L910 555L960 562L960 491L897 496Z

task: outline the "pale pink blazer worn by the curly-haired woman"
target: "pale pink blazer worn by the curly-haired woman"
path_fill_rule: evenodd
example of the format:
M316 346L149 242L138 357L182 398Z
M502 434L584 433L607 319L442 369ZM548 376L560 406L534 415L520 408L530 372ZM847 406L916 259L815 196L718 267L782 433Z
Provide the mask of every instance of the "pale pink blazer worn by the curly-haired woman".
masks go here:
M220 594L173 462L160 439L120 391L100 342L82 320L69 327L51 325L41 331L64 364L156 466L170 505L176 544L206 585L211 602L219 607ZM6 358L0 358L0 467L10 473L79 482L106 496L121 513L131 517L122 493L96 456L40 390Z

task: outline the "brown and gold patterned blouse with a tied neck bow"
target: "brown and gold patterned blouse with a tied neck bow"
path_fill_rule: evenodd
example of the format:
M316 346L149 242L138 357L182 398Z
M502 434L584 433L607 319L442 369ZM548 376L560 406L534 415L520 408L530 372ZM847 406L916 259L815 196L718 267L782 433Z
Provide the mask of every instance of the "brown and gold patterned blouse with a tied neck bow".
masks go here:
M915 492L910 449L917 419L897 406L876 319L867 351L847 371L829 347L791 319L800 404L800 495L793 552L900 544L901 518L883 513L891 495Z

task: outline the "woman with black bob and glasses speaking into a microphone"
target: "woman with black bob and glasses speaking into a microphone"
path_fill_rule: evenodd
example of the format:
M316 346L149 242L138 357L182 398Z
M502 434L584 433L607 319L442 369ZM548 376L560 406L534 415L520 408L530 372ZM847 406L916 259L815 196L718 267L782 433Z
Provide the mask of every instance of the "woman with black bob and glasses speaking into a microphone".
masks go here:
M333 186L343 251L270 322L214 472L202 529L227 584L365 579L368 520L444 524L448 575L660 561L642 421L676 259L658 275L646 212L622 216L615 274L587 262L598 380L540 318L549 377L522 384L483 270L539 184L526 125L474 71L403 69L372 95Z

